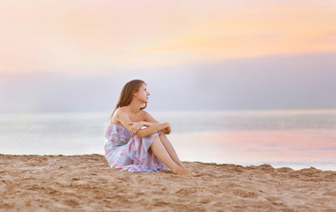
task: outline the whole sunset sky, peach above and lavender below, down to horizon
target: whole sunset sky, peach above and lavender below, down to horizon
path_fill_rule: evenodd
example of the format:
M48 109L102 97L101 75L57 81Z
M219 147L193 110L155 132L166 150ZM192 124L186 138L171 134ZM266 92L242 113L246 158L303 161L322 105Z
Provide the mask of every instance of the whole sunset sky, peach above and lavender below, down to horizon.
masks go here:
M0 113L336 109L336 3L2 0Z

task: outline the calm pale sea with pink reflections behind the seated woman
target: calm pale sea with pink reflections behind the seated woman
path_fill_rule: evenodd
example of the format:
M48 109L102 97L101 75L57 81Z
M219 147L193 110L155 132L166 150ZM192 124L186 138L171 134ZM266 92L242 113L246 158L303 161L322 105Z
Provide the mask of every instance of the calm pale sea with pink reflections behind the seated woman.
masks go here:
M183 161L336 170L336 110L149 112ZM104 154L108 116L0 114L0 154Z

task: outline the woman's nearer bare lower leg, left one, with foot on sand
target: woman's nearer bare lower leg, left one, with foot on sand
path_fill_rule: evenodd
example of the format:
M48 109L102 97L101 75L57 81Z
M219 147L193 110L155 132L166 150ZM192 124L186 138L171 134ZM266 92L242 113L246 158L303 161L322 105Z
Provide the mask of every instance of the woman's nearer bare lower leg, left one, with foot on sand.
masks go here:
M165 163L170 170L172 170L177 175L191 176L190 171L182 169L178 164L176 164L171 157L168 155L166 148L163 146L159 136L152 140L152 153L156 155L162 163Z

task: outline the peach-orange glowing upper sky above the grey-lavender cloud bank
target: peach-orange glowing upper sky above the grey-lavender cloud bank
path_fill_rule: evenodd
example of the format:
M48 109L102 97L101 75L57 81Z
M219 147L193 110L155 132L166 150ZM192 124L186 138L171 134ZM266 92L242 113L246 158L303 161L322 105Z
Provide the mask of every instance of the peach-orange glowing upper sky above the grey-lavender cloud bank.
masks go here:
M334 51L331 1L2 1L0 72L77 72Z

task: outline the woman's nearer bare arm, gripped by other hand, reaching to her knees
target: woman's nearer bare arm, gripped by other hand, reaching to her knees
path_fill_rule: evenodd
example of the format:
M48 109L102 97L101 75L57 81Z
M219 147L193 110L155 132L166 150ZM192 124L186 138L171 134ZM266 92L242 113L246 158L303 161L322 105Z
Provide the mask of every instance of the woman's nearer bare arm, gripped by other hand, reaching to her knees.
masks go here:
M123 126L125 126L128 130L130 129L130 126L133 125L133 122L129 119L129 114L127 114L125 111L121 109L115 110L115 115L118 119L118 121L121 122ZM140 136L142 138L147 137L148 135L151 135L153 133L158 133L159 131L165 129L165 128L170 128L170 125L168 122L166 123L153 123L153 125L145 128L138 130L136 135Z

